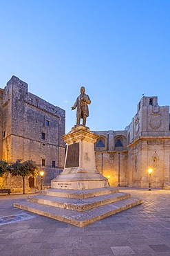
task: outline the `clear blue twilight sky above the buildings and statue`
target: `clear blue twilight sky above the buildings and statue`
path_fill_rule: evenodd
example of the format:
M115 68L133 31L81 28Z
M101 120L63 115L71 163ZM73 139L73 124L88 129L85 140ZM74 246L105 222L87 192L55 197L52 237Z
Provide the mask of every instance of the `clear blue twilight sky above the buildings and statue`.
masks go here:
M91 130L123 130L145 96L170 104L169 0L0 0L0 87L12 75Z

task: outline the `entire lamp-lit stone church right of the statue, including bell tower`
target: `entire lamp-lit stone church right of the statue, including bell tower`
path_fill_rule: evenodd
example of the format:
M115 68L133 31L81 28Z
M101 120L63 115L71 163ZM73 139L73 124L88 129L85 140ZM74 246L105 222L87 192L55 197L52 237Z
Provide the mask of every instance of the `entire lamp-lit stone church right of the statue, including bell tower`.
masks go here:
M95 131L100 135L96 167L110 176L111 185L148 188L149 167L153 188L170 188L169 106L160 107L157 97L142 97L136 116L125 131ZM119 176L120 174L120 176Z

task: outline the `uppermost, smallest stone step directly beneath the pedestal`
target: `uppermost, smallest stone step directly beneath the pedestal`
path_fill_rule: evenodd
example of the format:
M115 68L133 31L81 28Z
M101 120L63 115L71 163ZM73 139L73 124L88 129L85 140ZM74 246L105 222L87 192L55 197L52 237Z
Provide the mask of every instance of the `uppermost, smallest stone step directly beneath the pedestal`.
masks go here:
M91 190L63 190L63 189L48 189L41 190L41 194L47 196L60 196L72 199L85 199L93 196L102 196L104 194L112 194L119 192L118 188L106 187L106 188L95 188Z

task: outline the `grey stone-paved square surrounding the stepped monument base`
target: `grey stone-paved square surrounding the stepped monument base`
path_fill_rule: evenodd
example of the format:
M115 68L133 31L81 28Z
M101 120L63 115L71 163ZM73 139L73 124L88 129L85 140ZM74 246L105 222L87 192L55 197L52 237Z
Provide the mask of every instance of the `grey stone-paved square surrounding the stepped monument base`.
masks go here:
M142 205L84 228L13 208L27 195L0 196L1 256L170 255L170 191L120 188ZM16 221L17 214L30 219ZM8 223L12 215L14 222Z

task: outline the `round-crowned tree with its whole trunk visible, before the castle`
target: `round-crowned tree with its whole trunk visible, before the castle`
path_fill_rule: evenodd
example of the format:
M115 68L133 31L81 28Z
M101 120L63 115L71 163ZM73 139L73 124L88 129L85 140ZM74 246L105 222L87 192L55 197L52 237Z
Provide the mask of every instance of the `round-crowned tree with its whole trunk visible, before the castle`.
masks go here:
M25 176L36 176L37 166L32 160L21 163L21 159L18 159L15 163L8 166L9 172L12 176L21 176L23 179L23 194L25 194Z

